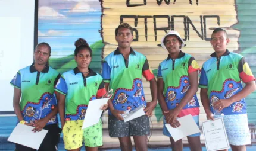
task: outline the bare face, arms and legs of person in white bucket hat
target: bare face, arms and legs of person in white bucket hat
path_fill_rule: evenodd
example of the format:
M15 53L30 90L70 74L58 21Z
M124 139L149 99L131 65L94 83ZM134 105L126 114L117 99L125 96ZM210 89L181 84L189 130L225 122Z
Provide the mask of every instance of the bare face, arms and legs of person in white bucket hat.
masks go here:
M170 35L166 37L166 49L169 52L171 59L177 59L180 53L181 42L177 38L177 36ZM157 87L158 87L158 103L162 109L163 115L166 117L166 122L170 124L172 127L177 128L180 126L179 121L177 120L177 116L180 111L186 104L192 99L193 95L198 91L198 72L188 73L189 75L189 89L186 92L185 96L180 101L180 104L177 105L173 110L168 110L167 104L164 97L164 81L162 78L157 79ZM182 139L177 140L176 142L173 140L173 137L170 137L171 140L171 148L172 150L181 151L183 150ZM191 150L202 150L200 136L189 137L189 148Z

